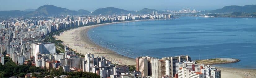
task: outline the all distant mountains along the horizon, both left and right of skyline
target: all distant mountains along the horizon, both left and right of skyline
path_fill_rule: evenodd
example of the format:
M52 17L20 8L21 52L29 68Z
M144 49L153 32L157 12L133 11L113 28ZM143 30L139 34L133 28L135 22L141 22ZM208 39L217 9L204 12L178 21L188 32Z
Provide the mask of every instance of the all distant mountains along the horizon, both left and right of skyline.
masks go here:
M246 6L225 6L222 9L202 11L201 14L205 13L220 13L220 14L231 14L233 12L241 13L255 13L256 5L246 5ZM166 11L154 10L144 8L139 11L129 11L124 9L119 9L115 7L100 8L92 13L88 10L69 10L66 8L61 8L53 5L43 5L38 9L27 9L27 10L10 10L10 11L0 11L0 17L31 17L31 16L55 16L55 15L111 15L111 14L151 14L153 11L157 11L159 14L167 13Z

